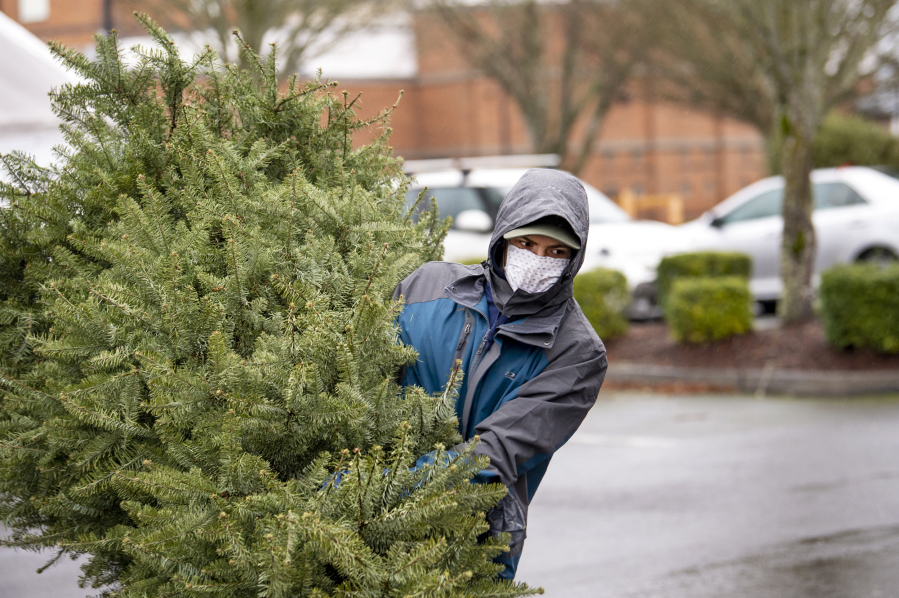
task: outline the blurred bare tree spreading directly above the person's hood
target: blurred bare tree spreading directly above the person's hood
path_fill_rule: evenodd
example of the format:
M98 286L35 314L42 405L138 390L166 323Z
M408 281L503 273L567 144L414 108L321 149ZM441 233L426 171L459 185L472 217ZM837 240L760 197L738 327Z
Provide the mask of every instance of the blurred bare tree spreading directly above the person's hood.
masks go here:
M647 48L638 0L431 0L470 65L518 105L534 150L580 171ZM582 129L580 127L583 127ZM577 143L575 131L583 131Z

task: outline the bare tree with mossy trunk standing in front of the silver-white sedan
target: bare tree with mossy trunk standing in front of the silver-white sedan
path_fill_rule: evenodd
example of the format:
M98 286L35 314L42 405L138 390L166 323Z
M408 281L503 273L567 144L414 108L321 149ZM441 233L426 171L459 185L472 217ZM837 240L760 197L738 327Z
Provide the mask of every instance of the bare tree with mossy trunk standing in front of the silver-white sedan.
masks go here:
M684 99L753 123L785 179L780 313L813 316L812 143L896 27L896 0L667 0L657 65ZM867 68L865 68L867 67Z

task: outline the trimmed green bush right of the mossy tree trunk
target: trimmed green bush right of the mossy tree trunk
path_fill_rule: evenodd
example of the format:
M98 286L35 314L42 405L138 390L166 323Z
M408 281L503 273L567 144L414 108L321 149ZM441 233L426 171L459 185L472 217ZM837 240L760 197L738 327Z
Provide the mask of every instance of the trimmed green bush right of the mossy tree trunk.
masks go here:
M835 266L818 292L830 344L899 353L899 265Z

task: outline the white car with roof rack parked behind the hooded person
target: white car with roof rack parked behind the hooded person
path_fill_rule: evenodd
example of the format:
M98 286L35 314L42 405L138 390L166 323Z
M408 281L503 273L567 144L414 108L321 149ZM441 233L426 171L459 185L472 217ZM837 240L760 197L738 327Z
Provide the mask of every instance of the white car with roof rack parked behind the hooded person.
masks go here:
M499 204L525 172L523 168L476 168L414 174L407 202L411 205L427 187L428 196L437 200L440 215L453 217L444 258L484 259ZM683 237L677 228L663 222L634 220L596 188L583 185L590 208L590 232L581 271L596 267L619 270L632 290L651 283L662 256L683 250ZM639 316L639 310L633 315Z

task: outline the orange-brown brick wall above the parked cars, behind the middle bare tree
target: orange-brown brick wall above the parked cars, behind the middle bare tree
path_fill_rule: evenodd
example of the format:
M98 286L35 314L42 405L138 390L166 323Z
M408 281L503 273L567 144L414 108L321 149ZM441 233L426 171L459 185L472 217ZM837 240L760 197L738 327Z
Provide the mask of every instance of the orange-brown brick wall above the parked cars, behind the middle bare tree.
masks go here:
M407 94L420 102L421 130L418 145L397 144L398 153L438 158L531 152L514 101L467 64L447 30L419 13L415 32L419 72ZM644 87L630 85L606 115L579 173L585 181L613 198L624 188L637 195L680 194L686 217L693 218L767 175L763 138L754 127L644 101Z

